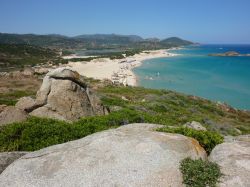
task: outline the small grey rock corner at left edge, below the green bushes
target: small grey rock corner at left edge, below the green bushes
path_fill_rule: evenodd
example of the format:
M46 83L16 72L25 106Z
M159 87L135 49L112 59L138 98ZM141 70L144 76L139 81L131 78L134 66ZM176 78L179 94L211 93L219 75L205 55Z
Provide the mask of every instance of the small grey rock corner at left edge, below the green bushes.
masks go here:
M0 174L7 168L12 162L27 154L28 152L2 152L0 153Z

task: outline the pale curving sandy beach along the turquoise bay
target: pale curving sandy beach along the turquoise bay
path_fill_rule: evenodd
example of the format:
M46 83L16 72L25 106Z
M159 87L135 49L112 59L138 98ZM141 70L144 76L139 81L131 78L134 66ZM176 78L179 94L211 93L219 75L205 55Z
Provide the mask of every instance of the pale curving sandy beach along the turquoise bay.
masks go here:
M136 86L137 80L132 69L140 66L143 60L175 55L168 50L151 50L124 59L99 58L89 62L69 62L68 66L86 77L109 79L114 84ZM64 58L70 59L70 56Z

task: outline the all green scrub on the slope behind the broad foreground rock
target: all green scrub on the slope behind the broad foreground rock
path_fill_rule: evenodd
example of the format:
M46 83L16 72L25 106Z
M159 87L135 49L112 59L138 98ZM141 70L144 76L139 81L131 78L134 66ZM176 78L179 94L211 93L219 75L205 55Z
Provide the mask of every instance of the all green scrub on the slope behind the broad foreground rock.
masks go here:
M100 81L86 80L109 108L109 115L86 117L73 123L31 117L25 122L3 126L0 128L0 151L33 151L135 122L162 124L164 132L194 137L208 153L223 141L219 134L233 134L236 127L242 134L250 132L247 112L226 111L211 101L169 90L119 87L108 83L104 86ZM20 94L23 93L14 95L19 97ZM208 132L181 127L189 121L202 123ZM177 128L173 130L168 126Z

